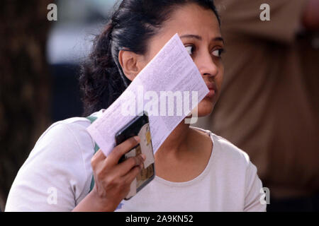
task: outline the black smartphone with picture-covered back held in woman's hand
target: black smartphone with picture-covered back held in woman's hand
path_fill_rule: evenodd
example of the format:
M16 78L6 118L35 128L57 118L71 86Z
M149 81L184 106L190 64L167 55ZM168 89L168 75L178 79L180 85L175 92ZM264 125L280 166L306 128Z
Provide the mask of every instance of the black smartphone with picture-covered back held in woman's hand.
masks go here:
M150 133L150 121L147 117L146 112L142 112L142 115L138 115L122 129L116 133L116 145L123 143L132 136L139 136L140 143L134 148L125 153L119 160L123 162L129 157L134 157L143 153L146 156L144 167L141 169L140 174L134 179L132 184L130 184L130 192L124 198L128 200L135 196L143 187L155 178L155 159L152 148L152 136Z

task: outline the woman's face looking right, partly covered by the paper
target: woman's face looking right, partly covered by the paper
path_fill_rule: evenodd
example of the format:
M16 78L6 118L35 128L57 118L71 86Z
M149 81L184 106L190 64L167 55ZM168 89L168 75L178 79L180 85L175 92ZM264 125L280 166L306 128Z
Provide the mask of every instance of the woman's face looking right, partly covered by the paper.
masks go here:
M142 65L146 66L176 33L179 34L210 90L198 104L198 117L206 116L211 113L218 100L223 81L224 70L220 54L223 52L224 44L218 20L213 11L197 4L187 4L178 8L163 24L159 33L150 40Z

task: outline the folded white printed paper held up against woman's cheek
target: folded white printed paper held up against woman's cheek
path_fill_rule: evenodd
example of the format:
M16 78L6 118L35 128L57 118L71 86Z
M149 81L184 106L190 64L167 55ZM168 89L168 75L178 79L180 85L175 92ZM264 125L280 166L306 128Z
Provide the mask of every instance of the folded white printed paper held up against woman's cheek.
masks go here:
M107 156L116 145L116 132L145 110L156 153L208 92L196 64L175 34L87 131Z

